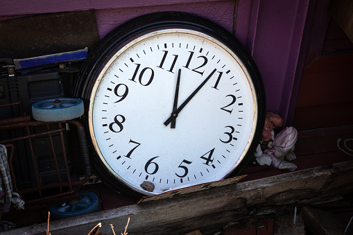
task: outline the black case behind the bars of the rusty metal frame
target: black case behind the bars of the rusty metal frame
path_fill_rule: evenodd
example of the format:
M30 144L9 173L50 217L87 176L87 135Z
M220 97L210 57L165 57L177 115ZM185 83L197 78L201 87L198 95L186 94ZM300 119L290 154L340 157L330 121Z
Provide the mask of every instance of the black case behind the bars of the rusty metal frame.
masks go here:
M2 58L0 59L0 124L4 123L18 123L28 121L31 119L32 105L37 101L48 98L62 98L69 94L68 87L71 73L60 73L52 69L42 71L35 71L25 75L19 73L10 74L8 68L12 68L12 60ZM23 116L24 115L24 116ZM51 125L51 128L52 125ZM8 129L0 132L0 141L6 139L14 139L28 135L29 133L41 133L47 130L46 126L28 126L22 129ZM53 134L51 137L53 146L61 146L60 135ZM70 143L69 134L64 134L64 142ZM15 143L14 161L16 162L18 171L16 173L16 180L19 182L19 189L31 187L34 185L35 168L43 177L43 183L55 182L58 177L53 174L53 159L51 155L51 143L48 138L36 137L31 139L31 143L19 139ZM28 156L32 155L32 148L37 149L35 154L34 164L28 161ZM64 168L64 154L70 159L69 151L63 153L61 148L56 148L56 155L58 156L59 168L62 177L65 175Z

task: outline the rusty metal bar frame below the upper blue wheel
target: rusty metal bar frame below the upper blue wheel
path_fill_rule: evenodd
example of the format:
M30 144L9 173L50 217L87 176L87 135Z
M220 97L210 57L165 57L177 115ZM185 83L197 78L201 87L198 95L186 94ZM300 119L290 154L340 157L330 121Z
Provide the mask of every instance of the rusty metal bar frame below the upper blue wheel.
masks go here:
M44 123L41 121L24 121L24 122L18 122L18 123L14 123L12 120L9 121L9 123L3 122L2 125L0 125L0 132L3 130L13 130L13 129L18 129L18 128L24 128L26 130L26 133L24 136L21 137L16 137L13 139L8 139L6 141L0 141L0 143L6 143L8 147L10 147L11 151L10 151L10 171L11 171L11 176L12 176L12 181L14 184L14 188L15 191L17 191L17 193L19 193L21 195L22 198L26 199L26 196L24 195L28 195L28 194L33 194L33 193L37 193L37 197L35 197L32 200L28 200L26 202L37 202L38 200L57 200L58 198L60 198L62 195L68 195L71 193L74 193L74 189L73 186L77 186L77 185L83 185L85 184L85 182L87 182L89 180L89 176L91 175L91 171L90 171L90 163L89 163L89 152L87 149L87 145L85 145L86 143L86 139L85 139L85 135L80 136L79 140L80 140L80 152L82 153L82 155L85 158L85 166L86 166L86 174L85 177L82 180L76 180L76 181L71 181L71 175L70 175L70 169L69 169L69 163L68 163L68 159L67 159L67 155L66 155L66 146L64 144L64 132L66 131L66 128L64 128L62 125L63 124L71 124L71 125L75 125L76 128L78 129L78 132L85 132L85 129L83 128L83 125L76 120L70 120L70 121L63 121L63 122L58 122L55 123L58 125L58 128L56 128L55 130L50 130L49 129L49 125L50 124L54 124L54 123ZM30 127L35 127L35 126L46 126L46 128L48 129L45 132L41 132L41 133L36 133L36 134L31 134L29 131ZM61 141L61 146L54 146L53 143L53 134L58 133L60 134L60 141ZM51 143L51 150L53 153L53 162L55 162L55 169L56 169L56 174L58 175L58 181L57 182L51 182L49 184L43 184L43 180L45 178L40 175L40 171L38 171L37 168L37 159L35 157L35 151L33 149L33 139L35 137L47 137L49 138L49 141ZM17 180L15 177L15 166L13 164L13 155L15 153L15 146L12 145L11 143L15 142L15 141L19 141L19 140L26 140L29 143L29 146L31 148L31 159L29 159L30 161L33 162L33 167L34 167L34 171L35 171L35 186L32 186L30 188L26 188L26 189L19 189L17 187ZM55 154L55 148L62 148L62 153L64 154L64 168L65 168L65 173L66 173L66 177L62 177L62 174L60 173L60 168L59 168L59 164L58 164L58 157ZM67 190L64 190L64 188L67 188ZM54 195L47 195L44 194L46 190L49 189L58 189L58 193L55 193Z

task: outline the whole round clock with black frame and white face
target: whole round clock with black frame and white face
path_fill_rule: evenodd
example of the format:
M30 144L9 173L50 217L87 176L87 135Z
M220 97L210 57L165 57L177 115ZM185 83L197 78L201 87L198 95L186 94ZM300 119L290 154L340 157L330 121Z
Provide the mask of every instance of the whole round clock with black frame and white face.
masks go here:
M246 49L181 12L115 28L89 53L75 95L96 175L137 195L239 173L264 128L264 87Z

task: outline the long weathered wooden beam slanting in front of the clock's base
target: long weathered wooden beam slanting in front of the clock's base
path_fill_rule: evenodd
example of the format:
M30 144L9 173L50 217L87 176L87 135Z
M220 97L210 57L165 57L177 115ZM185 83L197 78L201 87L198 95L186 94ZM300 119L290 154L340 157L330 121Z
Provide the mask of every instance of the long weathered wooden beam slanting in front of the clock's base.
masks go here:
M88 234L102 223L103 234L109 232L110 224L116 233L121 233L130 217L129 235L182 234L205 227L221 228L232 220L249 217L250 211L256 215L261 208L302 207L352 191L353 161L341 162L191 193L169 192L160 200L142 200L128 207L53 221L49 229L53 235ZM46 223L2 234L45 234L45 231Z

